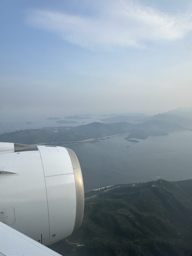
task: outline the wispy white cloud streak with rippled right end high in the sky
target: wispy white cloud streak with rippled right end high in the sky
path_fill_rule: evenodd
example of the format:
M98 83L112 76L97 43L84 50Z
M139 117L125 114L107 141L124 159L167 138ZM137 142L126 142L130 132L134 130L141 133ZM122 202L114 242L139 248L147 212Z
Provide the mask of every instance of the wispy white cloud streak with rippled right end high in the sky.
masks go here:
M98 2L100 2L98 0ZM92 17L32 10L29 24L59 34L64 40L96 50L147 47L148 43L183 38L192 30L192 12L170 14L126 0L98 3Z

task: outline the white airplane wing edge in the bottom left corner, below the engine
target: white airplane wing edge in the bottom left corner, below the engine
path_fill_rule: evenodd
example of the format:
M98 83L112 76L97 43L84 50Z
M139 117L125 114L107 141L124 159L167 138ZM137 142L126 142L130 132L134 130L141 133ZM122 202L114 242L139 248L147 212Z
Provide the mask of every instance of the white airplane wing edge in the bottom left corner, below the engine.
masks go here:
M48 247L0 222L0 256L61 256Z

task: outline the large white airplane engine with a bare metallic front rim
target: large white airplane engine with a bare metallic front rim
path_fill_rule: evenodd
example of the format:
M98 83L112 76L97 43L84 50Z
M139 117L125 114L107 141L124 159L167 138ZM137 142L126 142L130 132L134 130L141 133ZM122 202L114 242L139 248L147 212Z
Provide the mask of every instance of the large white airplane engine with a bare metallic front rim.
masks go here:
M69 148L0 142L0 221L44 245L81 226L84 186Z

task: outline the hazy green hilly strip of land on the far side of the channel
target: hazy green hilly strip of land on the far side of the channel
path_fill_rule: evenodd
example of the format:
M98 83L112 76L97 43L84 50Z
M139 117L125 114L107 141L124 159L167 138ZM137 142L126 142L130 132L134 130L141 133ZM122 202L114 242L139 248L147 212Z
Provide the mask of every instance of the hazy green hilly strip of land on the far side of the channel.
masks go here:
M28 129L0 134L1 142L16 142L24 144L39 144L52 142L81 141L91 138L100 138L120 133L130 133L129 138L146 139L150 135L167 135L183 129L180 124L162 120L150 120L141 124L130 123L90 123L54 132L52 128Z

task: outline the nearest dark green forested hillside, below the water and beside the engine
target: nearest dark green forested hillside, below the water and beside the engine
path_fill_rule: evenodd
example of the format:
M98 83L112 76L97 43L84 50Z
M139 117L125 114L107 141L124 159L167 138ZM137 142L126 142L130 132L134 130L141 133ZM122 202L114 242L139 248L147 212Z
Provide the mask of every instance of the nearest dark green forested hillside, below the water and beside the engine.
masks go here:
M98 193L85 200L81 228L52 249L67 256L192 252L192 180L127 184Z

